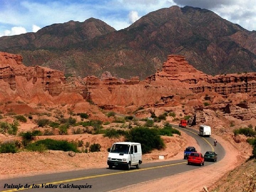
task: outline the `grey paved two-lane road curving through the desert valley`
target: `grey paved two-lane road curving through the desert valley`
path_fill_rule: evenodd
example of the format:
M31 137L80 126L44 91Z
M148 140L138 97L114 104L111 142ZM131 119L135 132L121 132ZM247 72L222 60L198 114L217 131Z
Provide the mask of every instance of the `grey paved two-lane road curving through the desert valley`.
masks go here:
M217 146L212 146L213 138L202 138L199 135L197 135L196 131L193 129L179 129L184 130L187 134L191 135L197 140L199 146L201 146L202 154L204 154L205 151L215 150L216 153L218 154L218 160L221 160L224 157L225 151L219 143ZM213 163L218 163L218 161L205 162L204 166ZM18 177L7 180L1 180L0 191L109 191L128 185L133 185L135 183L170 176L198 168L200 168L200 166L187 165L187 160L181 159L142 164L140 169L132 168L130 171L108 168L68 171L56 174L44 174L30 177ZM46 186L56 186L57 188L45 188L45 186L42 188L42 183L47 183ZM10 188L7 189L4 188L5 184L21 184L23 185L23 188L21 188L20 190L13 190ZM24 185L26 184L31 185L30 189L24 189ZM33 184L39 185L39 188L32 188ZM79 190L78 188L64 188L67 185L72 186L72 184L86 186L89 185L89 187L91 188L81 188L81 190Z

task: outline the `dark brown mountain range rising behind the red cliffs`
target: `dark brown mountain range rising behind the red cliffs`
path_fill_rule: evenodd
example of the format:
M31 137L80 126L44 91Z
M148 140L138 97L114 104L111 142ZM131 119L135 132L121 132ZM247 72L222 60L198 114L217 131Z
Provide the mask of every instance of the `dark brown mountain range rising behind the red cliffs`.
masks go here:
M124 30L90 18L1 37L0 50L21 54L27 66L43 65L65 74L144 79L169 54L179 54L207 74L256 71L256 32L214 12L172 6L151 12Z

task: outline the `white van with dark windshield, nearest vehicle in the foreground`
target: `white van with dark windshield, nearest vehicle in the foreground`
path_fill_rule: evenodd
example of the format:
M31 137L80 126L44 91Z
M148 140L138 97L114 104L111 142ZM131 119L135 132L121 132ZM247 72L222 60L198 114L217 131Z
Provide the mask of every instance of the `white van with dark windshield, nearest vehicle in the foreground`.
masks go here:
M108 148L107 164L109 168L113 166L125 166L130 170L130 166L136 166L138 169L142 164L142 149L140 143L118 142Z

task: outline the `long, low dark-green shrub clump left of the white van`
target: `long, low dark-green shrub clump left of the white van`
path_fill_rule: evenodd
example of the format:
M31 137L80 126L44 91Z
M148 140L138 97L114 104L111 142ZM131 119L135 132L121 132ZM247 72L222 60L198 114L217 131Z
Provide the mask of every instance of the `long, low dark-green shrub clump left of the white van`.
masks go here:
M27 145L26 149L31 151L36 151L38 148L42 148L44 145L47 150L60 150L60 151L74 151L79 152L77 146L74 143L68 142L66 140L54 140L54 139L43 139L38 140L34 143Z

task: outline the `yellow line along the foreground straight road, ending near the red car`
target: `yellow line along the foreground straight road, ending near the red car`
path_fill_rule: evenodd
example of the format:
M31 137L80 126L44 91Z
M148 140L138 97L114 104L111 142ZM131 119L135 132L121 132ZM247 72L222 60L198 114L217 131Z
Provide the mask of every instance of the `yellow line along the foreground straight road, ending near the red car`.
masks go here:
M169 164L169 165L161 165L161 166L156 166L156 167L148 167L148 168L134 169L134 170L129 170L129 171L114 172L114 173L109 173L109 174L73 178L73 179L68 179L68 180L63 180L63 181L55 181L55 182L51 182L51 183L52 184L66 183L66 182L70 182L70 181L79 181L79 180L85 180L85 179L89 179L89 178L105 177L105 176L110 176L110 175L118 175L118 174L124 174L124 173L136 172L136 171L145 171L145 170L150 170L150 169L156 169L156 168L161 168L161 167L181 165L181 164L185 164L185 163L187 163L187 161L180 162L180 163L175 163L175 164ZM43 184L49 185L51 183L43 183ZM37 185L42 186L42 184L37 184ZM31 185L31 187L32 187L32 185ZM21 189L18 189L18 190L17 189L11 189L11 190L6 190L6 191L2 191L2 192L12 192L12 191L21 191L21 190L29 190L29 189L31 189L31 188L21 188Z

